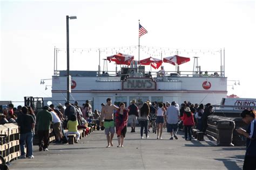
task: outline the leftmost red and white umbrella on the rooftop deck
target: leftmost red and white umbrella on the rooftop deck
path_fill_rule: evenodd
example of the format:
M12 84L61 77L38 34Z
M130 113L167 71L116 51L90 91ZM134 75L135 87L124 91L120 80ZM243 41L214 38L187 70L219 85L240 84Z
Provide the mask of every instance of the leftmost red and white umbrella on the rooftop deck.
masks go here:
M134 59L133 55L118 53L116 55L107 56L109 62L115 61L118 65L130 65L130 62Z

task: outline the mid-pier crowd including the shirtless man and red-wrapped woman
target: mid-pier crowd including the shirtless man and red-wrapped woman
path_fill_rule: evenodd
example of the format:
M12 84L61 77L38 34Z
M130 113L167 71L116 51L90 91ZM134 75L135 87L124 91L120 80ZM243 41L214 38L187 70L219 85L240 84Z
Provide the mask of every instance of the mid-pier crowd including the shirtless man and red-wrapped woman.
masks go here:
M107 139L107 146L113 146L112 140L116 126L118 137L118 146L124 147L124 139L127 131L127 123L130 121L131 133L136 132L136 123L140 125L140 138L149 138L150 132L150 117L156 116L157 139L163 139L163 128L167 128L170 133L170 140L178 139L178 125L184 126L185 140L191 140L191 128L196 127L200 131L206 132L207 117L213 114L212 105L206 104L191 104L184 101L179 105L173 101L171 103L150 102L136 103L133 99L128 107L125 108L125 103L120 103L119 107L113 105L111 98L107 98L106 105L102 107L100 115L100 125L104 126ZM116 110L116 111L115 111ZM115 114L114 114L115 112ZM180 129L183 129L180 127Z

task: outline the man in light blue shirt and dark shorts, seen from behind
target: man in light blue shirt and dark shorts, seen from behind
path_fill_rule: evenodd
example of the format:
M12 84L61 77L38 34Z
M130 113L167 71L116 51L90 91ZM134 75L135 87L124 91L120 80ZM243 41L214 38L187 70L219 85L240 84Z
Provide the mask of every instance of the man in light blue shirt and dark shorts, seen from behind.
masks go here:
M178 130L178 122L180 119L180 112L179 109L175 107L176 102L172 102L171 106L167 109L165 118L167 122L167 132L171 133L170 140L173 140L173 133L174 138L178 139L177 137L177 130Z

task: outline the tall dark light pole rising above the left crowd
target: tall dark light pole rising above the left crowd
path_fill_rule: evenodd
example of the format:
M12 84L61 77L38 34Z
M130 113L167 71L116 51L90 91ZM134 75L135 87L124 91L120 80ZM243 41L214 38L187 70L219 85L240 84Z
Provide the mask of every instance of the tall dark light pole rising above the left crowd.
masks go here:
M76 16L66 16L66 100L69 101L71 93L70 78L69 78L69 19L77 19Z

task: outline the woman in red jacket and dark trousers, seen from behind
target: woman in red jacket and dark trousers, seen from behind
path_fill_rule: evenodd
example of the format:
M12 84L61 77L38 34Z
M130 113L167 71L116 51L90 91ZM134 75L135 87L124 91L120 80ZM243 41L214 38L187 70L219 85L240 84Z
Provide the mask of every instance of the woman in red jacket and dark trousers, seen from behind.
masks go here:
M190 108L186 108L185 112L183 114L183 117L181 117L181 120L183 120L183 124L185 126L185 140L187 140L187 132L188 132L188 139L191 140L191 128L194 125L194 117L193 113L190 111Z

